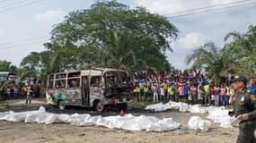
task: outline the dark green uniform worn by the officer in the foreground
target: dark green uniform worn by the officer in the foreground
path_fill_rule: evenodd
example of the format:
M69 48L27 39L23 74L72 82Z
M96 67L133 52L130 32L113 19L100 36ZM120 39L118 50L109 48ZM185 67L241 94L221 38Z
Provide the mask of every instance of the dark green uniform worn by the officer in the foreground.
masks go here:
M239 135L236 143L256 143L254 130L256 129L256 96L250 90L243 89L235 93L234 114L237 117L249 114L249 120L239 123Z

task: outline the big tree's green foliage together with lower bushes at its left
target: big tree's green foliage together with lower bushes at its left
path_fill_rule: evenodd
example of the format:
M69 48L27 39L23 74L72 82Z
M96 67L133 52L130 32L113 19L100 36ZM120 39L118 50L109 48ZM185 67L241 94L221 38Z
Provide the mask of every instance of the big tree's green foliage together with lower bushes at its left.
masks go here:
M22 60L22 73L45 79L49 72L93 66L166 71L171 64L165 52L172 51L170 44L178 32L166 18L145 8L99 2L69 13L57 24L51 42L45 44L47 51L33 52Z

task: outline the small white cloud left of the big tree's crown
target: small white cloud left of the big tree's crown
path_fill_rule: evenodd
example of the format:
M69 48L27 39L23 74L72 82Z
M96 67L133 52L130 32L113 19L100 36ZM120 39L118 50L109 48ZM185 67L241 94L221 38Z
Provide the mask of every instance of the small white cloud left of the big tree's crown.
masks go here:
M64 11L57 11L57 10L49 10L44 13L39 13L34 16L35 21L60 21L63 19L63 16L66 12Z

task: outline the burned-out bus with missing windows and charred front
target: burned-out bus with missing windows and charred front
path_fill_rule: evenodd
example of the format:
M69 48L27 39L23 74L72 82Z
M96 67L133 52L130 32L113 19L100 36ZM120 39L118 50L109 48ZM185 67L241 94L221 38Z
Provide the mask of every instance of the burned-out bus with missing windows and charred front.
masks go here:
M108 106L125 110L130 94L128 74L119 69L58 72L47 80L47 103L60 110L66 105L93 107L100 113Z

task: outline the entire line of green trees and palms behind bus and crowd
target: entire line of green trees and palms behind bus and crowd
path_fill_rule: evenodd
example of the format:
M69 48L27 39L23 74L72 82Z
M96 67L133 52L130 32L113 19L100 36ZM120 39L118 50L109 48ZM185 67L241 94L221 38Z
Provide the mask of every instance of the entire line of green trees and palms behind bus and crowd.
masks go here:
M51 72L111 67L134 71L172 71L166 52L179 29L166 17L143 7L131 9L116 1L97 2L89 9L66 15L51 31L45 51L32 52L20 67L0 61L0 71L17 72L21 78L37 77L42 83ZM209 42L187 55L188 70L205 68L218 81L223 77L256 71L256 27L231 31L225 46ZM36 48L36 47L35 47ZM174 51L174 50L173 50ZM175 52L175 51L174 51Z

